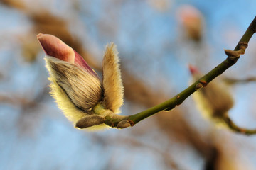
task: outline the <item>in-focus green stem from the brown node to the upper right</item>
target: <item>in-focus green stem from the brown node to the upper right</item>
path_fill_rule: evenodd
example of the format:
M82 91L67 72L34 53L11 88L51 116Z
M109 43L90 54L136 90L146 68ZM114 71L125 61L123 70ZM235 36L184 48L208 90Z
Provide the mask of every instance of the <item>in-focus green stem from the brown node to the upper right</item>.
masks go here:
M164 101L164 103L160 103L159 105L153 106L140 113L129 115L127 117L128 121L132 122L132 125L135 125L144 118L148 118L149 116L159 113L160 111L169 111L171 109L174 109L176 106L180 105L186 98L188 98L188 96L191 96L191 94L193 94L197 89L206 86L208 83L210 83L210 81L218 77L220 74L225 72L226 69L235 64L238 61L240 55L245 53L245 49L247 48L248 42L250 41L250 38L252 38L252 35L255 32L256 17L245 31L245 34L238 42L238 45L235 47L235 49L233 51L225 50L226 55L228 55L227 59L218 64L217 67L215 67L210 72L205 74L203 77L198 79L198 81L194 82L191 86L188 86L187 89L181 91L181 93L177 94L173 98L170 98L168 101Z

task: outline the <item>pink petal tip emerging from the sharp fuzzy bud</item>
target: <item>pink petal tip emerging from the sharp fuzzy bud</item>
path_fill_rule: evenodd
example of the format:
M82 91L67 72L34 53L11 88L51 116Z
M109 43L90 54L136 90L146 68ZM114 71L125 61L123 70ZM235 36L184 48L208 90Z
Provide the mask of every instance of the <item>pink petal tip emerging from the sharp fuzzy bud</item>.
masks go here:
M46 55L75 64L87 70L91 74L97 76L93 69L90 68L87 62L85 62L82 56L80 56L78 52L73 50L72 47L66 45L59 38L55 37L54 35L43 33L39 33L37 35L37 38L41 46L43 47L44 52L46 52Z

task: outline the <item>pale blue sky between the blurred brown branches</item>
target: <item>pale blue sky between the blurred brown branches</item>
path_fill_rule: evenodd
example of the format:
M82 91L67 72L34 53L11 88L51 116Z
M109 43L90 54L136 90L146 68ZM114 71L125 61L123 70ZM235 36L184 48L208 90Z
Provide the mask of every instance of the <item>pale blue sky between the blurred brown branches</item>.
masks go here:
M148 1L80 1L79 11L69 1L38 3L41 5L35 6L35 10L47 8L70 20L70 30L80 35L85 45L90 45L97 58L101 58L107 42L117 44L121 64L152 89L163 89L170 97L188 86L191 78L188 63L196 64L195 59L206 61L201 67L203 72L215 67L225 59L223 49L235 47L256 15L256 1L252 0L173 0L164 11L154 8ZM184 4L196 7L203 15L200 45L184 40L178 27L176 13ZM21 57L18 38L29 33L32 24L26 13L3 5L0 6L0 21L0 73L4 74L0 79L0 94L33 98L49 82L43 52L34 64L24 62ZM255 60L252 60L256 54L254 45L255 37L247 53L224 75L256 76ZM235 85L232 90L235 107L230 111L231 118L239 125L255 128L255 83ZM191 98L185 105L189 102ZM130 105L132 103L124 104L123 114L143 109ZM196 108L191 111L198 114ZM0 103L0 127L0 169L167 169L161 157L166 150L185 169L202 169L203 166L203 158L191 146L175 142L169 145L168 137L159 134L153 118L125 130L84 132L73 128L49 95L36 111L23 111L20 104ZM25 132L21 132L22 128ZM136 128L148 130L137 134ZM131 137L147 147L134 147L129 141ZM236 141L238 148L242 145L234 160L240 159L241 164L255 169L256 138L230 135L230 139ZM122 140L128 142L122 145Z

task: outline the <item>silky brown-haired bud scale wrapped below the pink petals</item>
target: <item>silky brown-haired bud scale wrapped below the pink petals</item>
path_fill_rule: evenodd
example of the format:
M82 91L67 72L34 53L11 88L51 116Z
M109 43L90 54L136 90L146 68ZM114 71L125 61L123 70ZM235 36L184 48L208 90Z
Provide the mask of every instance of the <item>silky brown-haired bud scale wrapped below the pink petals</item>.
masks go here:
M100 80L90 72L55 57L46 56L50 77L68 94L70 100L83 111L91 111L102 100Z

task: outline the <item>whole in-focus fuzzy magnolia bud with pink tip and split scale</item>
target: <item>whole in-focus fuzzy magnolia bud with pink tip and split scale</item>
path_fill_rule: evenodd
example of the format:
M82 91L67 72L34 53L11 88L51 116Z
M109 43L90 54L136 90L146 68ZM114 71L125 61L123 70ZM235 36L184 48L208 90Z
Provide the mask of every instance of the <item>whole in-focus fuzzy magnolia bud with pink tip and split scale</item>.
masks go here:
M76 128L104 125L105 116L119 113L123 86L116 46L106 47L103 58L103 81L85 60L53 35L37 35L46 53L51 94L58 107ZM97 105L104 109L97 110Z

